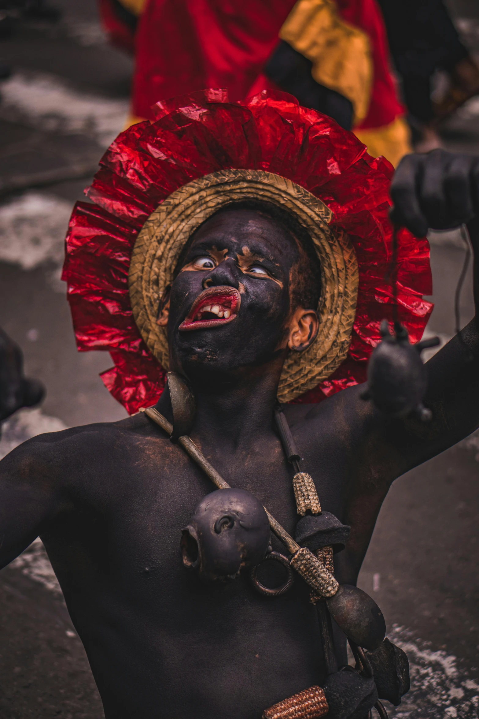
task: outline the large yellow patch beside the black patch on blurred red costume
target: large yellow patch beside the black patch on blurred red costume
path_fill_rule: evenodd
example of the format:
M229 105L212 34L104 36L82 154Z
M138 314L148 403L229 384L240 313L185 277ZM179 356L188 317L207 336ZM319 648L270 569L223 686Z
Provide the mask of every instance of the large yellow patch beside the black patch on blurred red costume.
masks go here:
M279 37L311 60L317 83L353 104L354 123L368 114L373 62L365 32L345 22L333 0L298 0Z

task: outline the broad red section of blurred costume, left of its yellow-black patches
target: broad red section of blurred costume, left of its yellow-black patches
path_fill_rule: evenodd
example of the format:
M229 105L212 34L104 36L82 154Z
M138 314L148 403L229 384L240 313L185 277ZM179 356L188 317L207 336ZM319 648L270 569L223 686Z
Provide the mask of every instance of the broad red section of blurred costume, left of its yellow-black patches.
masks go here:
M133 113L203 88L251 95L294 0L149 0L136 32ZM261 91L266 86L261 82ZM254 92L254 90L253 90Z

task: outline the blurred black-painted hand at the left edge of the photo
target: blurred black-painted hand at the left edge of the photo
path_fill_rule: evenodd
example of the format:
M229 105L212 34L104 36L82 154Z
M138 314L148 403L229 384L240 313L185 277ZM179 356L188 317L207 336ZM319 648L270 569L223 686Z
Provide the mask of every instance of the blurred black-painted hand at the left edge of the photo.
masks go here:
M21 407L42 401L45 388L23 375L22 350L0 329L0 422Z

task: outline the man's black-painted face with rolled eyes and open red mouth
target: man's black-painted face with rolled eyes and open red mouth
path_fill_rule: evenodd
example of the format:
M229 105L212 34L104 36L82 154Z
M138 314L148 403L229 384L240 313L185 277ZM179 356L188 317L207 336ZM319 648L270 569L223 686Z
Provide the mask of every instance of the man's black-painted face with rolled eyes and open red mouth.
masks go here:
M186 374L206 364L231 372L284 356L298 259L295 239L259 211L231 209L206 221L172 284L172 365Z

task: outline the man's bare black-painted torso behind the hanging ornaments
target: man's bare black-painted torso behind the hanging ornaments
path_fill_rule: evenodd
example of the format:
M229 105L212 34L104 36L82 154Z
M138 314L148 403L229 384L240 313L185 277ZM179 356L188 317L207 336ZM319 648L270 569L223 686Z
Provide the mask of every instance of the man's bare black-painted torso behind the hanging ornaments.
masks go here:
M322 508L341 515L347 472L338 434L325 423L313 443L304 427L292 430ZM234 582L203 585L183 566L180 529L214 487L179 446L145 416L62 434L70 435L62 444L75 505L42 539L107 719L254 719L324 679L316 612L299 577L271 599L251 587L247 570ZM272 427L268 434L246 456L225 458L218 447L208 457L294 534L294 472ZM99 458L88 466L77 461L87 448Z

